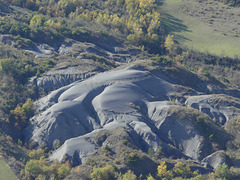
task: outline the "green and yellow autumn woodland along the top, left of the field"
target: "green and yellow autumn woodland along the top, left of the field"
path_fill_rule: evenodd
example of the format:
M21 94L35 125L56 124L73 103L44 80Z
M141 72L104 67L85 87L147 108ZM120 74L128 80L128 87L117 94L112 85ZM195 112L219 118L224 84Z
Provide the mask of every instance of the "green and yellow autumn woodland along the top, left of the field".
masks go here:
M12 23L11 19L2 19L3 33L10 32L44 42L59 36L76 39L89 33L88 30L84 30L84 22L87 22L90 23L88 26L99 25L91 29L94 32L109 35L107 31L110 30L114 36L122 35L128 42L144 46L152 52L163 48L160 45L166 34L160 23L160 2L155 0L6 2L28 8L33 13L28 17L21 17L19 24ZM36 11L40 14L34 13ZM20 17L18 18L20 20ZM102 25L105 28L101 28Z

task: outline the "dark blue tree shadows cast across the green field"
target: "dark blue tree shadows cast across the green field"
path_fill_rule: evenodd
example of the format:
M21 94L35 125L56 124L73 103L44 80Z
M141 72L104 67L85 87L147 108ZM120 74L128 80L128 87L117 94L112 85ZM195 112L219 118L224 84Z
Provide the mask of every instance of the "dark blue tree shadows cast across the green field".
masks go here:
M190 32L188 27L183 24L183 21L167 13L163 14L162 23L168 34L175 34L175 32ZM187 37L183 35L175 35L177 39L181 41L190 41Z

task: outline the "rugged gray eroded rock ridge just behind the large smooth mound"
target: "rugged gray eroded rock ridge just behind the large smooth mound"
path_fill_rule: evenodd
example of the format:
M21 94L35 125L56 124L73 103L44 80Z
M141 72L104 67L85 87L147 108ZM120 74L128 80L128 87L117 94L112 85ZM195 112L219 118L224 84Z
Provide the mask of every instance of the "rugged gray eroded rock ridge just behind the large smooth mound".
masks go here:
M35 85L39 91L45 93L75 81L82 81L111 68L106 65L106 62L96 62L94 59L96 57L105 58L110 64L116 66L135 61L136 55L142 53L140 49L126 47L115 47L114 51L108 51L95 44L82 43L72 39L65 39L57 43L55 48L39 43L25 49L25 51L34 54L36 58L49 58L58 55L58 63L54 69L30 80L30 83Z

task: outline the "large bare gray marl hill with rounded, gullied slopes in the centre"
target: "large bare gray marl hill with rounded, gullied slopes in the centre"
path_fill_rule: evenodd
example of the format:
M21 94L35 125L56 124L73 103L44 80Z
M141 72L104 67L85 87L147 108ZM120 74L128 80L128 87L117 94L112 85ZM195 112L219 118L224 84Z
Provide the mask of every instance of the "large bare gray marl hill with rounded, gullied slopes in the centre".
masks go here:
M77 165L101 146L114 147L115 141L98 143L96 136L121 127L144 151L162 147L168 156L212 168L229 163L221 151L230 140L223 127L239 116L240 92L180 67L152 64L136 61L52 91L35 102L25 140L50 149L60 141L50 159L67 157Z

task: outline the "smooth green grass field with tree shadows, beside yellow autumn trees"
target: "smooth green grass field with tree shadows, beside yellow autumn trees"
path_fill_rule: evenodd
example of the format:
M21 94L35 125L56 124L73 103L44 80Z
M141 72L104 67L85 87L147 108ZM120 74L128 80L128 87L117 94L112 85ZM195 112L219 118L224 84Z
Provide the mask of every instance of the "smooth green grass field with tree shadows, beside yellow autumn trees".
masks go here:
M211 26L202 21L201 17L183 13L179 8L182 3L183 0L165 0L161 7L164 11L162 22L166 25L168 32L175 35L180 44L217 55L230 57L240 55L240 37L222 33L219 29L221 27ZM230 23L224 26L230 26Z

